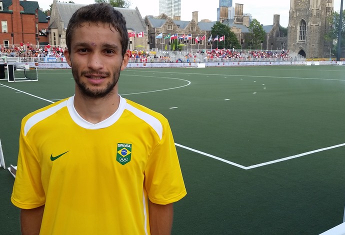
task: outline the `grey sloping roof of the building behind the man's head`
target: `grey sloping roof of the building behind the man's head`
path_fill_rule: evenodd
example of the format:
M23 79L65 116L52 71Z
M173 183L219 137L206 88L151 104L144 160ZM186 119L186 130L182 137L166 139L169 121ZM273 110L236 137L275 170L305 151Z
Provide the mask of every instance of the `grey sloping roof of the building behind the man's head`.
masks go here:
M59 15L61 16L61 20L63 21L63 27L67 28L68 22L72 14L79 9L80 7L84 6L85 4L75 4L75 3L65 3L65 2L57 2L56 1L56 7L58 10ZM126 20L126 26L128 29L132 29L137 32L145 31L145 25L143 22L143 19L139 13L139 10L137 8L130 9L130 8L120 8L120 7L114 7L116 10L122 13ZM49 27L52 27L54 21L52 18L51 25Z

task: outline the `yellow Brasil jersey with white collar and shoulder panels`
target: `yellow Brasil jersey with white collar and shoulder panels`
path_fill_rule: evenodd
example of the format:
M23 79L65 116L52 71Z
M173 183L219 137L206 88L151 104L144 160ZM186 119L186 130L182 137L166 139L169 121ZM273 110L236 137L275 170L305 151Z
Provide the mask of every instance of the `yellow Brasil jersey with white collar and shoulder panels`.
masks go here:
M40 234L150 234L148 198L186 194L168 121L120 97L92 124L73 96L25 116L11 201L44 206Z

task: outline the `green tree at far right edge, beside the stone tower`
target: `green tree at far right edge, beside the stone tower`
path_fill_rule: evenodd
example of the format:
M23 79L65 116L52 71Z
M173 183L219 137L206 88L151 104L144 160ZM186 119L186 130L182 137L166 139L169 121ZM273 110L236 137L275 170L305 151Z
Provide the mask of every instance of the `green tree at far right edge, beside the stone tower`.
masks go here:
M345 45L345 10L342 14L342 25L341 25L341 48ZM339 30L339 17L340 14L334 11L331 16L327 19L330 25L328 32L324 35L324 39L332 46L331 53L337 54L337 41L338 41L338 30Z

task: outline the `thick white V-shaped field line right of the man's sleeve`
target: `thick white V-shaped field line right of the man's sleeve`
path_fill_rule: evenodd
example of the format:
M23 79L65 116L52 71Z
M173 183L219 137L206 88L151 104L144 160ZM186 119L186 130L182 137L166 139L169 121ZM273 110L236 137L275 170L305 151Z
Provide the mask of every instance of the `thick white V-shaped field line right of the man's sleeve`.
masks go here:
M323 148L320 148L320 149L316 149L316 150L312 150L312 151L296 154L296 155L293 155L293 156L287 156L287 157L283 157L283 158L280 158L280 159L271 160L271 161L267 161L267 162L263 162L263 163L259 163L259 164L255 164L255 165L249 165L249 166L243 166L243 165L237 164L235 162L232 162L232 161L229 161L229 160L225 160L225 159L223 159L221 157L214 156L212 154L209 154L209 153L206 153L206 152L202 152L202 151L193 149L191 147L183 146L183 145L178 144L178 143L175 143L175 145L178 146L178 147L187 149L189 151L193 151L193 152L199 153L201 155L208 156L208 157L211 157L213 159L225 162L227 164L239 167L241 169L253 169L253 168L261 167L261 166L264 166L264 165L274 164L274 163L277 163L277 162L281 162L281 161L285 161L285 160L289 160L289 159L293 159L293 158L309 155L309 154L312 154L312 153L329 150L329 149L332 149L332 148L342 147L342 146L345 146L345 143L341 143L341 144L337 144L337 145L333 145L333 146L329 146L329 147L323 147Z

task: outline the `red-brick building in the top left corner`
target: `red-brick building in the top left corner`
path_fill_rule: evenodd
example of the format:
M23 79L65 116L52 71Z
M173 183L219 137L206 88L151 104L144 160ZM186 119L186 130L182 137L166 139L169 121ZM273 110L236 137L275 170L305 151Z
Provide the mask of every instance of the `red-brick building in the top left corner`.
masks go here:
M48 18L37 1L0 0L0 16L2 46L48 43Z

